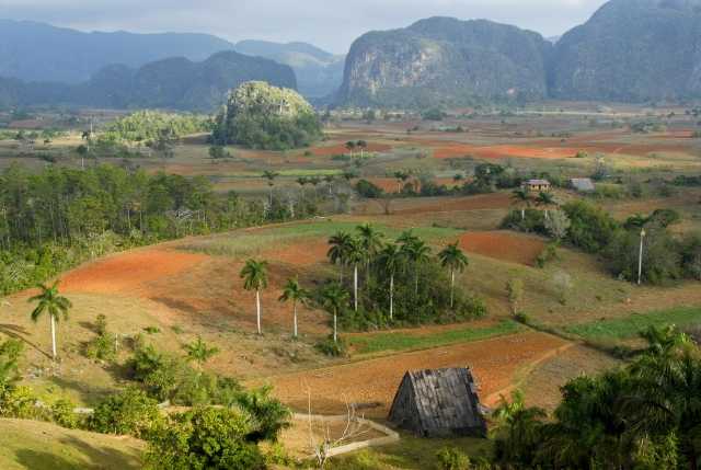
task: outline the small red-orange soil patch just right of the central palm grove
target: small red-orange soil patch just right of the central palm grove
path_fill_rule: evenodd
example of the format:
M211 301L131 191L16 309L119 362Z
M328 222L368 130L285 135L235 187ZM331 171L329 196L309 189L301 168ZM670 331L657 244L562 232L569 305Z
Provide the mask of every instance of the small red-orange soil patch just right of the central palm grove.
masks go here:
M509 263L533 265L545 243L536 237L489 231L469 232L460 237L460 247L470 252Z

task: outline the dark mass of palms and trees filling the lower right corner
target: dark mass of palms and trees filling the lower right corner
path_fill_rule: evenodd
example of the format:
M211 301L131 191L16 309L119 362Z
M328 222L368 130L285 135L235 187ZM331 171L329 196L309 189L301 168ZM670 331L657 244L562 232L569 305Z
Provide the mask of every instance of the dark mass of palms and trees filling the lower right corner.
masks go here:
M521 394L496 409L506 468L697 469L701 452L701 351L674 326L650 328L625 368L562 388L552 419Z

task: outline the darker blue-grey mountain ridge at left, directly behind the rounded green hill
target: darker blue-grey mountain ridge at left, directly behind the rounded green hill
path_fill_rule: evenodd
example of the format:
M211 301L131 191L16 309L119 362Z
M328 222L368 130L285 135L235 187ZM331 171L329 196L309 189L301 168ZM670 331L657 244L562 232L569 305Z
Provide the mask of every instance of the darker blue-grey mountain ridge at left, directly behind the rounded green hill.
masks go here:
M229 50L200 62L174 57L139 69L107 66L80 84L0 79L0 106L68 104L211 112L226 102L230 89L254 80L297 88L290 67Z

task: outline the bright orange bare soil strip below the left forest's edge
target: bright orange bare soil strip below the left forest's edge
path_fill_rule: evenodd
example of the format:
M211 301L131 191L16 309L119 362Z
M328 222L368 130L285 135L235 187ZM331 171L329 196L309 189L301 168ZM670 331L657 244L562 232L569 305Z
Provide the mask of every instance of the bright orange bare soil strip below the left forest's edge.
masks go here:
M127 293L145 283L176 275L208 256L163 248L137 250L78 267L61 278L68 293Z

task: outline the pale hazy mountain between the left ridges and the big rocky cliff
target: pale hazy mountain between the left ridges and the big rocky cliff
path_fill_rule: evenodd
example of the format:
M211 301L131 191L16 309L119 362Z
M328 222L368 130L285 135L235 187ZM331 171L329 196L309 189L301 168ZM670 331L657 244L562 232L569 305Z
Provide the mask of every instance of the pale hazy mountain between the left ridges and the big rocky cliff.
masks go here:
M327 53L311 44L242 41L237 43L235 50L290 66L297 76L299 92L310 99L335 93L343 81L345 56Z

